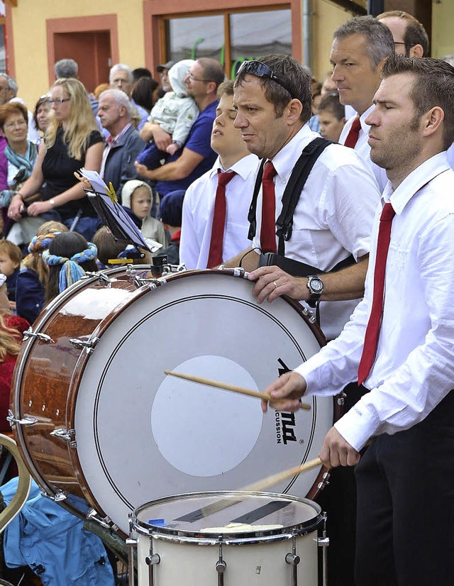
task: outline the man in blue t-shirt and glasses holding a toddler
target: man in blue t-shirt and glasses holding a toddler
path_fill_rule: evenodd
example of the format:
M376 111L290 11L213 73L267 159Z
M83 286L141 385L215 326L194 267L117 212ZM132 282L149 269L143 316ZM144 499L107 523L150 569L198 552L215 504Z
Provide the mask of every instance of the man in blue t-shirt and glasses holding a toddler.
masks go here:
M158 169L148 170L145 165L135 165L139 175L156 182L156 189L161 197L177 189L187 189L195 179L214 165L216 153L210 145L211 129L218 105L216 91L224 77L221 63L215 59L201 57L196 60L184 79L184 84L187 94L194 98L200 114L189 131L186 143ZM145 124L140 138L145 142L153 138L160 150L165 150L172 143L172 136L154 123Z

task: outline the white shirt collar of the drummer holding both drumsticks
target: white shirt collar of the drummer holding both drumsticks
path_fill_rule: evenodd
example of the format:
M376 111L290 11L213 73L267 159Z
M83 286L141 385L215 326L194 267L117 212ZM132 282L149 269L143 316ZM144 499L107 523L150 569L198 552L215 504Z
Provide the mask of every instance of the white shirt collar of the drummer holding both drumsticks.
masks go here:
M384 204L390 201L396 214L402 214L406 204L409 203L416 192L419 192L419 189L431 182L432 179L435 179L437 175L440 175L449 169L450 166L448 163L448 157L446 156L446 151L438 153L424 161L419 167L405 177L404 181L402 181L397 189L392 188L390 181L387 182L382 194L382 201Z

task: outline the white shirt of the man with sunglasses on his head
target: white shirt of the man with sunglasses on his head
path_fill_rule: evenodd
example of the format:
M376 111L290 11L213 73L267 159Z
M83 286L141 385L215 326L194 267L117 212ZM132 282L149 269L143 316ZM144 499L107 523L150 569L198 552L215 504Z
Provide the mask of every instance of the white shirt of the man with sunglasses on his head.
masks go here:
M319 135L306 124L273 158L276 219L282 195L302 150ZM372 172L353 149L329 145L316 160L301 192L293 219L292 237L285 256L328 272L353 254L356 260L369 252L370 233L380 194ZM260 248L262 193L257 201L257 231L253 246ZM321 302L321 328L336 338L358 300Z

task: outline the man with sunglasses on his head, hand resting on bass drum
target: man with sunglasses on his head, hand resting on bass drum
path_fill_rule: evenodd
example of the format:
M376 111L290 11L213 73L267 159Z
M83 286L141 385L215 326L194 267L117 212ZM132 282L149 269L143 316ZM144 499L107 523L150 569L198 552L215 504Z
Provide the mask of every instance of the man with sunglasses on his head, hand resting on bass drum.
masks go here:
M253 292L259 302L272 302L285 294L309 302L311 311L316 305L323 333L328 339L336 338L364 291L372 220L380 201L375 178L353 149L328 144L314 162L302 190L292 194L297 197L292 231L284 242L284 254L280 250L279 255L272 257L282 266L287 260L299 262L298 267L304 270L299 274L306 276L293 276L295 272L291 275L277 265L258 267L265 258L260 253L281 249L276 221L282 211L285 189L292 184L292 172L298 167L303 150L315 139L322 139L307 124L311 116L309 75L292 57L270 55L245 62L235 80L234 103L238 111L235 126L240 128L248 150L266 162L255 214L250 215L255 228L250 233L252 246L226 264L241 264L252 271L249 279L255 281ZM270 198L273 190L274 197ZM350 262L350 266L332 272ZM351 392L358 394L358 387ZM323 492L342 490L333 478ZM347 502L345 516L351 519L352 527L354 512L354 503ZM331 510L328 514L331 535L334 529L340 534L337 542L333 536L328 550L329 583L336 584L335 579L341 577L337 583L350 586L353 538L346 538L348 551L340 550L337 543L345 536L343 517L335 521ZM333 556L341 561L333 564Z

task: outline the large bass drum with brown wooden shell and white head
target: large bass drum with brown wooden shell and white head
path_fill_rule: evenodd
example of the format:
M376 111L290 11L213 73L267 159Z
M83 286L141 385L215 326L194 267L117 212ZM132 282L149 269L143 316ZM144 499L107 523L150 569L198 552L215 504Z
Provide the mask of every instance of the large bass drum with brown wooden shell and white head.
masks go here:
M331 398L311 397L296 416L264 415L258 399L164 373L265 389L323 344L299 304L259 305L243 270L135 275L88 277L43 311L18 356L11 403L43 492L124 535L128 514L150 499L235 490L316 458L333 424ZM313 498L323 472L275 490Z

